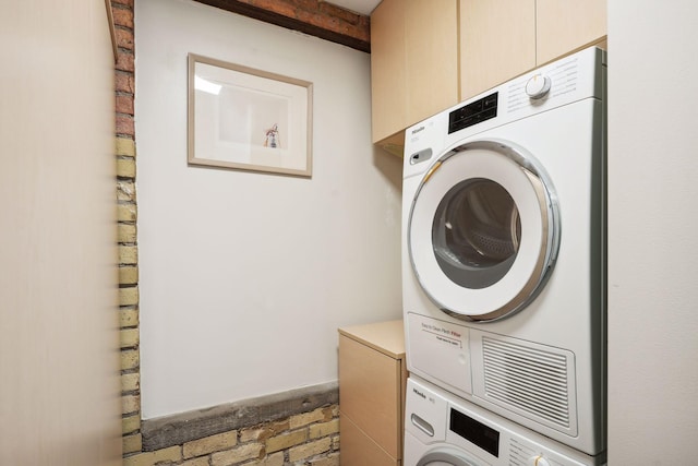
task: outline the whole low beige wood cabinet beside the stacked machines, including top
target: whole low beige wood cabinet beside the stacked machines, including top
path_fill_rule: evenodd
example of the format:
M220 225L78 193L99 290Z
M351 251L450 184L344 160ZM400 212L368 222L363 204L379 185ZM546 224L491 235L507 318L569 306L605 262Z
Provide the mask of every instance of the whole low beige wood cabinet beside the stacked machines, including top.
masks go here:
M402 464L402 321L339 328L339 461L342 466Z

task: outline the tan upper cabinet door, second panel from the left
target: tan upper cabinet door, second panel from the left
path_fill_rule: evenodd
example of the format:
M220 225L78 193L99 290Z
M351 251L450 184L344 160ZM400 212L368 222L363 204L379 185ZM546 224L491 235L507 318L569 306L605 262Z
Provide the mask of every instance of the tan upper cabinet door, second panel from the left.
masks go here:
M457 0L406 2L407 124L458 103Z

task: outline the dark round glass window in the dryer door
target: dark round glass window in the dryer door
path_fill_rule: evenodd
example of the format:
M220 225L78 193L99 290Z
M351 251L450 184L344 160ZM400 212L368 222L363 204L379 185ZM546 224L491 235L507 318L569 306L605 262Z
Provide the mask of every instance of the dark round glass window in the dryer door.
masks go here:
M512 195L497 182L469 179L438 204L432 246L441 270L460 286L480 289L512 268L521 240L521 220Z

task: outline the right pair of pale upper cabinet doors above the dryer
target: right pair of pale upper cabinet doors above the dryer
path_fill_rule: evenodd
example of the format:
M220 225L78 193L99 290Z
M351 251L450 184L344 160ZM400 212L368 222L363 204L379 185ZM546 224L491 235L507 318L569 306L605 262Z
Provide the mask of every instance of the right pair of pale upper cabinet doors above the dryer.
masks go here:
M606 35L606 0L460 0L460 99Z

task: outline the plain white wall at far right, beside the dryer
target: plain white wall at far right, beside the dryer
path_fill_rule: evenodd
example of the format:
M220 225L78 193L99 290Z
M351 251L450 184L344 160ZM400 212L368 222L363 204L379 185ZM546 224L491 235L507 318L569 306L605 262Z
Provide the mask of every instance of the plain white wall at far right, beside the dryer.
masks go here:
M698 4L609 2L609 464L695 464Z

